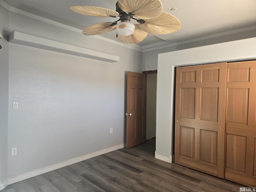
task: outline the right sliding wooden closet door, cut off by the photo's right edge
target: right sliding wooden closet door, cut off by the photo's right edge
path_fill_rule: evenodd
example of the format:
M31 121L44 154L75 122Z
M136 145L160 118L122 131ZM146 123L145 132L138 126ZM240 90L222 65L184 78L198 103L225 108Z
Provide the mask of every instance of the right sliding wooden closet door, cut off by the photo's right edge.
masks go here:
M256 186L256 61L227 65L225 178Z

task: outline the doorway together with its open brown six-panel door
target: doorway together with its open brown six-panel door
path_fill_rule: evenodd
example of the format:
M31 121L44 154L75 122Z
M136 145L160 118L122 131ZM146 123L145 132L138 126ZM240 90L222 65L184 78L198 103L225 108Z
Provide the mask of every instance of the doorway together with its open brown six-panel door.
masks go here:
M126 148L156 137L156 73L127 73Z

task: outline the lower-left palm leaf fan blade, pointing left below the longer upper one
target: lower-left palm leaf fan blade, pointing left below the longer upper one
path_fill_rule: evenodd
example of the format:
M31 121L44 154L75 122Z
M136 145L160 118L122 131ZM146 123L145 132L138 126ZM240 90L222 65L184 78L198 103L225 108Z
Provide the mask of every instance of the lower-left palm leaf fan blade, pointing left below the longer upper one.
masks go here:
M116 25L111 26L112 22L96 23L86 27L83 30L84 35L100 35L103 33L110 32L116 28Z

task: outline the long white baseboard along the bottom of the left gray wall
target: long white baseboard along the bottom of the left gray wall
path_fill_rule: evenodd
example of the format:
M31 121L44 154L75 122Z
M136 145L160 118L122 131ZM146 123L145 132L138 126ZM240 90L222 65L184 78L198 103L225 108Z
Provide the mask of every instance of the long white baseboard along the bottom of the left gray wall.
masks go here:
M86 154L84 156L73 158L73 159L70 159L70 160L67 160L67 161L64 161L64 162L60 162L60 163L57 163L57 164L54 164L54 165L51 165L51 166L47 166L47 167L44 167L44 168L41 168L41 169L37 169L37 170L30 171L30 172L27 172L27 173L24 173L24 174L20 174L18 176L9 178L6 183L3 183L3 184L0 183L0 190L5 188L7 185L10 185L10 184L13 184L13 183L16 183L16 182L34 177L34 176L38 176L40 174L44 174L46 172L56 170L58 168L62 168L62 167L65 167L65 166L68 166L68 165L71 165L71 164L74 164L74 163L77 163L77 162L80 162L80 161L83 161L83 160L86 160L86 159L90 159L90 158L93 158L93 157L96 157L96 156L99 156L99 155L102 155L102 154L105 154L105 153L108 153L108 152L112 152L114 150L118 150L118 149L124 148L124 146L125 146L125 144L117 145L117 146L110 147L110 148L107 148L107 149L103 149L103 150L100 150L100 151L97 151L97 152Z

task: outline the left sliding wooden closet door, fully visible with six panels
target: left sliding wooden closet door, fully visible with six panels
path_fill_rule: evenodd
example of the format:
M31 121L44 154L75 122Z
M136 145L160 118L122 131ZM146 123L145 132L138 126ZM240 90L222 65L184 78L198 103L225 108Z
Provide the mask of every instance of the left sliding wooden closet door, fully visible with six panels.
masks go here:
M226 63L176 68L174 162L224 178Z

